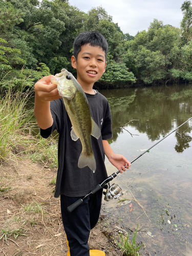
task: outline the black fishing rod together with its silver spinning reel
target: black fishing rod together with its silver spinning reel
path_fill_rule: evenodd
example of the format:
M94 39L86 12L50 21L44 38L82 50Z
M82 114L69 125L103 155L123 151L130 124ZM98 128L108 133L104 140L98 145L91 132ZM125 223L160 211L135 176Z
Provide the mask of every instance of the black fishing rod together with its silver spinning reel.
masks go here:
M162 140L164 140L166 137L168 137L170 134L174 133L176 130L178 130L183 124L187 123L190 119L192 119L192 117L190 117L187 121L185 121L184 123L182 123L180 126L178 126L174 131L170 132L169 134L167 134L164 138L162 138L161 140L159 140L157 143L155 143L153 146L151 146L150 148L148 148L146 151L144 151L141 155L139 155L138 157L136 157L131 163L135 162L138 158L140 158L141 156L143 156L146 152L150 151L154 146L156 146L158 143L160 143ZM125 167L125 166L124 166ZM104 188L105 185L107 185L107 190L104 193L105 195L105 201L109 201L113 198L118 198L119 196L122 196L122 190L121 187L118 186L117 184L113 184L111 187L108 185L108 183L110 181L112 181L115 177L117 177L117 175L120 173L120 171L122 170L119 169L116 173L113 173L112 175L110 175L108 178L106 178L105 180L103 180L101 183L99 183L98 185L96 185L89 194L87 194L86 196L84 196L82 199L78 199L75 203L71 204L70 206L67 207L67 210L69 212L72 212L77 206L79 206L84 199L88 198L89 196L95 194L99 189ZM120 194L121 193L121 194Z

